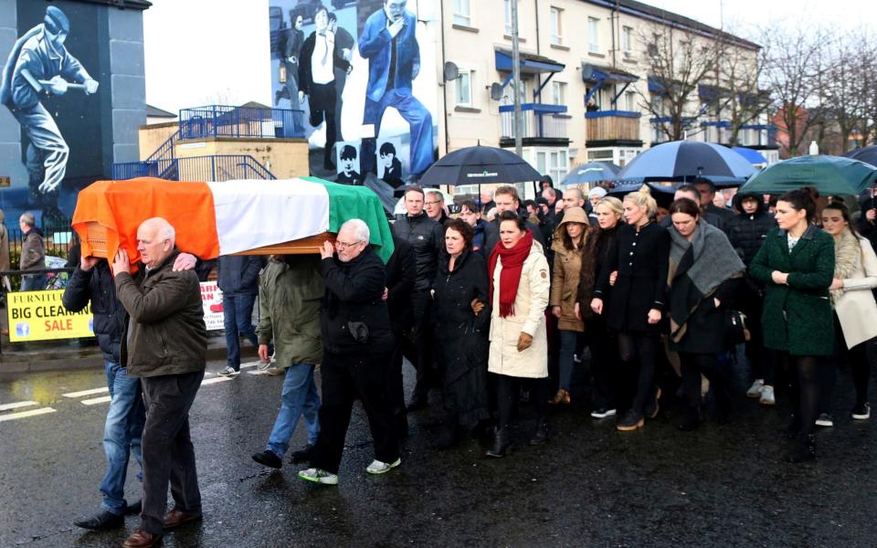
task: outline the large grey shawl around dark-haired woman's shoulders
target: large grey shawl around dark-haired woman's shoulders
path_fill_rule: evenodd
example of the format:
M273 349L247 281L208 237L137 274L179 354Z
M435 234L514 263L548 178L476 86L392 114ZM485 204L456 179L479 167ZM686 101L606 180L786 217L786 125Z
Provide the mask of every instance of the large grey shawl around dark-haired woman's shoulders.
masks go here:
M697 224L691 241L675 228L669 232L671 337L679 342L700 303L712 297L725 280L742 276L746 267L724 233L703 221Z

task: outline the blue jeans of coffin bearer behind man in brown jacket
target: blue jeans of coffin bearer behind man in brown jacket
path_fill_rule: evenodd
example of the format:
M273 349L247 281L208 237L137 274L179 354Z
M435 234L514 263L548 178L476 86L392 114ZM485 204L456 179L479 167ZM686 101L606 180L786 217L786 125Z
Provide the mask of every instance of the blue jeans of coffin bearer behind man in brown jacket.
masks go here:
M107 454L107 473L100 482L104 510L116 515L125 513L125 478L128 459L133 454L143 468L141 435L146 412L140 379L129 377L125 368L104 354L107 386L110 388L110 409L103 430L103 450ZM142 473L138 474L142 479Z

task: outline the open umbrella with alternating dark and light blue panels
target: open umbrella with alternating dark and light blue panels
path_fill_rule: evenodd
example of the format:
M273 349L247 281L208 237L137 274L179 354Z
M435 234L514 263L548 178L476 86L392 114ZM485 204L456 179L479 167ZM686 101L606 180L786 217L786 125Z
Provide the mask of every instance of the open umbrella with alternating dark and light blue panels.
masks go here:
M711 177L746 178L755 167L731 149L712 142L664 142L639 154L616 181L694 181Z

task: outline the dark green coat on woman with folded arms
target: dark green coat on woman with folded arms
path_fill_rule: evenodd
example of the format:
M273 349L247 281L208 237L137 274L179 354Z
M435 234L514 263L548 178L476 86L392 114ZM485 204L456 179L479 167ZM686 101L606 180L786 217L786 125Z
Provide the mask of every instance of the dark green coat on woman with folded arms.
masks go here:
M771 279L788 273L788 285ZM830 355L834 345L829 286L834 277L834 238L810 226L788 251L787 233L774 228L755 254L749 273L766 284L761 315L765 346L792 355Z

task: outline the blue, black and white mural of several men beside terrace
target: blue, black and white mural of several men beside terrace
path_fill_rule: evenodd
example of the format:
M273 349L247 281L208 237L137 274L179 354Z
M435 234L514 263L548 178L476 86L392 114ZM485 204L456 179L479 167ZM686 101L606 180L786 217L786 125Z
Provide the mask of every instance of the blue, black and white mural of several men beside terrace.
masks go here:
M436 37L425 17L434 4L269 1L274 104L302 111L312 174L396 187L435 161ZM388 177L385 143L394 149Z

